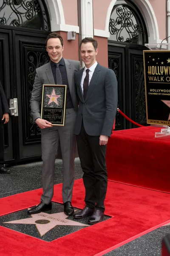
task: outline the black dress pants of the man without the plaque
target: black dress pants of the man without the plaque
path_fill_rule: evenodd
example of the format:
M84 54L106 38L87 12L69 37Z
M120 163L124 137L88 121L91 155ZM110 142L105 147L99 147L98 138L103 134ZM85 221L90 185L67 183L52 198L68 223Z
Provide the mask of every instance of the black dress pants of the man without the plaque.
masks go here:
M83 183L85 186L85 204L105 211L105 196L108 185L106 169L106 145L99 145L99 136L86 133L82 123L81 131L77 135L77 148L82 167Z

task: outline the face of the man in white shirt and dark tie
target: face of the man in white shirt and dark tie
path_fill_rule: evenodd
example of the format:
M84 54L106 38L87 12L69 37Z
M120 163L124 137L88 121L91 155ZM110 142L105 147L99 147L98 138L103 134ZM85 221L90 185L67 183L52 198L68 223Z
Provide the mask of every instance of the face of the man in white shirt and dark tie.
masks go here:
M91 67L96 62L96 55L98 53L98 49L94 49L94 46L91 42L86 44L82 43L80 48L80 55L82 61L85 63L87 68Z

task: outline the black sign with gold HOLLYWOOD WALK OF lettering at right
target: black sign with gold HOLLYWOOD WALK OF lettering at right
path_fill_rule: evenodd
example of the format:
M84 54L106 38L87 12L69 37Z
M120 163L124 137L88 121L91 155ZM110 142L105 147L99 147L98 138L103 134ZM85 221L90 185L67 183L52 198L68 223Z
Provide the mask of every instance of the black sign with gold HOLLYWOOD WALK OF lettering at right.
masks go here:
M144 78L147 123L170 126L169 50L144 51Z

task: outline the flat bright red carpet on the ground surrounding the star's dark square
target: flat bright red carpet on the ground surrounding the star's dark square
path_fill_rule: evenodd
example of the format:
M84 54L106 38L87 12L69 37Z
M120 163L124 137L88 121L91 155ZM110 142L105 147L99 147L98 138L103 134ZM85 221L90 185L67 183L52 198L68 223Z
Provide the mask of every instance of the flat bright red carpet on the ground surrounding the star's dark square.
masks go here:
M62 184L55 185L54 202L62 203L61 187ZM0 215L38 204L41 193L42 189L37 189L0 199ZM0 255L11 256L11 250L14 256L102 255L102 251L168 221L169 197L167 193L110 181L105 214L113 218L51 242L0 227ZM83 208L83 198L82 180L76 180L73 206Z

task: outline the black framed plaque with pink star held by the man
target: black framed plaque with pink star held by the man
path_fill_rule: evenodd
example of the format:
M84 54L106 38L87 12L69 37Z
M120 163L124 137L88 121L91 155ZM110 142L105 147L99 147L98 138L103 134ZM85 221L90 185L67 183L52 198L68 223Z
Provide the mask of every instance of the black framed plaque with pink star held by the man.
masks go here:
M67 85L42 85L41 119L54 126L65 125L66 92Z

